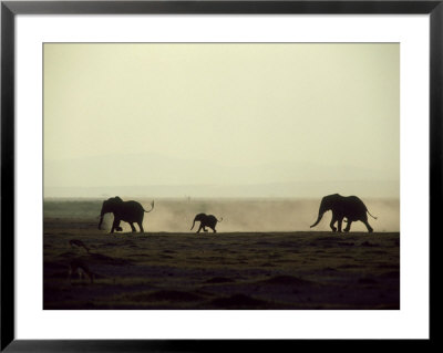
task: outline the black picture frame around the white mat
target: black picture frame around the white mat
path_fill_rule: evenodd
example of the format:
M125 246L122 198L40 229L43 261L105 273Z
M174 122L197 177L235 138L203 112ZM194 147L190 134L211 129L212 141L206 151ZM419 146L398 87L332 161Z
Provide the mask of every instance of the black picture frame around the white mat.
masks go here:
M298 13L430 15L430 249L436 249L442 209L443 0L341 1L1 1L1 351L7 352L213 352L236 349L296 349L311 341L213 340L16 340L14 335L14 21L18 14ZM434 276L430 253L431 279ZM431 293L434 285L430 282ZM434 297L431 295L431 299ZM432 302L431 302L432 305ZM430 340L435 338L430 309ZM38 324L38 323L35 323ZM320 342L333 350L342 341ZM377 341L365 342L371 349ZM411 347L410 341L395 341ZM360 345L361 342L347 341ZM383 342L385 344L385 342ZM414 345L414 344L412 344Z

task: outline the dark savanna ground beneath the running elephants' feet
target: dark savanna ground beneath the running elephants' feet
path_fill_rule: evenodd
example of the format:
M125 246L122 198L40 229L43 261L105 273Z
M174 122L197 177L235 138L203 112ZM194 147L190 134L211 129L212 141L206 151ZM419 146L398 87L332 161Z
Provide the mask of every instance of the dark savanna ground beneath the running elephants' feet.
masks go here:
M196 235L189 232L189 215L202 203L190 207L185 201L183 207L174 204L184 230L162 225L167 231L159 231L155 212L161 215L166 205L157 203L147 214L145 233L110 235L97 229L99 200L45 201L43 308L400 309L398 231L377 232L377 224L373 233L358 227L341 235L321 229L234 231L226 211L217 233ZM318 203L312 207L308 224L316 219ZM324 218L327 226L330 215ZM83 241L90 252L70 247L71 239ZM73 259L95 273L92 284L68 278Z

